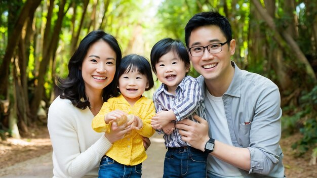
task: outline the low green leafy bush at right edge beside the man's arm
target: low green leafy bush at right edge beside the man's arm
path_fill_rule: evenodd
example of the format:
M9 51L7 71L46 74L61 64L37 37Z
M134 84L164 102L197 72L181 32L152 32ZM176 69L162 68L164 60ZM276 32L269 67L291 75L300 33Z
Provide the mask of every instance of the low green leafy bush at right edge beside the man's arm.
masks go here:
M298 153L303 154L317 144L317 85L310 92L302 95L300 109L300 114L296 118L302 120L303 124L299 131L303 138L293 144L292 148L298 149Z

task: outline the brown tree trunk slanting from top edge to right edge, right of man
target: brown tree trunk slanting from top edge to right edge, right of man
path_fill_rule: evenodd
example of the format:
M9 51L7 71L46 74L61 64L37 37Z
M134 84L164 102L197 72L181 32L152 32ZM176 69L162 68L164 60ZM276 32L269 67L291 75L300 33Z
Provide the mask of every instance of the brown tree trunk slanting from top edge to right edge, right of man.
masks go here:
M292 38L292 36L290 34L288 34L286 31L279 32L278 29L275 27L273 19L267 14L267 12L262 7L260 2L258 2L257 0L252 0L252 2L255 5L255 7L257 8L257 10L259 11L259 13L261 14L263 20L267 23L267 25L274 32L274 38L276 39L276 42L279 43L279 45L282 47L282 49L283 49L283 47L285 47L287 45L288 45L289 49L292 49L292 51L294 52L293 54L296 56L296 58L301 63L303 63L305 65L307 75L313 79L314 83L316 83L317 78L316 78L316 75L315 75L311 65L309 64L307 58L302 53L302 51L300 50L300 48L298 47L297 43ZM284 40L282 39L281 36L284 38Z

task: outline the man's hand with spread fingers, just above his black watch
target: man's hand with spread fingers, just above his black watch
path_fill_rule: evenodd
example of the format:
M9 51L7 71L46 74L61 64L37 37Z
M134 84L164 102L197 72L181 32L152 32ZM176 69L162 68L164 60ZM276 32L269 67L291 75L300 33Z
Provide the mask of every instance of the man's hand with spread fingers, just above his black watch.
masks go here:
M196 149L205 151L205 145L209 140L208 123L197 115L194 115L194 119L199 123L183 119L177 122L175 127L179 128L179 134L182 136L183 141Z

